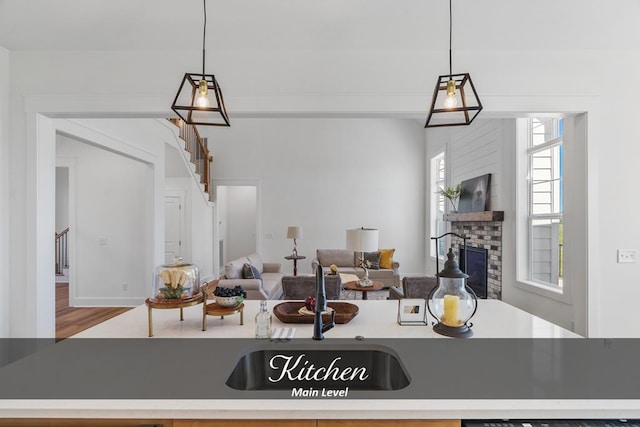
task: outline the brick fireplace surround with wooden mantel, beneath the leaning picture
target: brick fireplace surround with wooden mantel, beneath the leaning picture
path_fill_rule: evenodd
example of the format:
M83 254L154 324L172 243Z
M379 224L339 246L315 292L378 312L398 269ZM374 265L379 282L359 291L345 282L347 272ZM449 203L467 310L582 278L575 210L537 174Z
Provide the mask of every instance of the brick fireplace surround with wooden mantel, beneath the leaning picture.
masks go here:
M487 250L487 298L502 299L502 222L503 211L450 213L445 221L451 232L467 236L467 246ZM451 247L459 257L462 239L452 236Z

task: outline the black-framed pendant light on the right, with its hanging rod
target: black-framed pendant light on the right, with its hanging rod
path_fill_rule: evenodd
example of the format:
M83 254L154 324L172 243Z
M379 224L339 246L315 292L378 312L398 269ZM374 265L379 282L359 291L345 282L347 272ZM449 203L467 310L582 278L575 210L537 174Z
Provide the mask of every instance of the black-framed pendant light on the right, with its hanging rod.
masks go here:
M451 1L449 0L449 74L438 77L425 128L468 125L482 111L482 103L469 73L452 73Z

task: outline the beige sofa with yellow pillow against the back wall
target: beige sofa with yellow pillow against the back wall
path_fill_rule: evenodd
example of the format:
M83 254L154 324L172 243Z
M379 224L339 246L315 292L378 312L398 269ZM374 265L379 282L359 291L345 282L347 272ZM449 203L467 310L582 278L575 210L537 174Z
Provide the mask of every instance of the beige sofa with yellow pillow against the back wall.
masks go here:
M393 250L390 250L393 253ZM372 253L375 254L375 253ZM355 274L359 278L364 276L364 269L360 267L360 253L349 249L318 249L316 258L311 261L313 272L318 265L329 271L331 265L338 267L338 273ZM385 288L400 286L400 264L390 261L391 268L369 268L369 279L381 282Z

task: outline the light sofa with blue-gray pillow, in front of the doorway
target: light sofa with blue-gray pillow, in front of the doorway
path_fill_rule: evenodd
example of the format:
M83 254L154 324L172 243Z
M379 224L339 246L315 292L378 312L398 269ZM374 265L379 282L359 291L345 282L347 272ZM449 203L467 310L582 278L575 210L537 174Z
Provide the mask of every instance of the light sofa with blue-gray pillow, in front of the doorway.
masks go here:
M240 257L225 264L218 286L240 285L247 292L247 299L280 299L283 277L280 267L280 263L263 262L258 254Z

